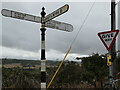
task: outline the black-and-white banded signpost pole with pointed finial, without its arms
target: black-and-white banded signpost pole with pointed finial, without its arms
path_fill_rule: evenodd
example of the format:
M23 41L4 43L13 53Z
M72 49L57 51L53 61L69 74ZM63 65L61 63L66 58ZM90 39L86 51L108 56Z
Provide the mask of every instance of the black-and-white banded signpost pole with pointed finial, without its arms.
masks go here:
M45 17L45 8L42 8L41 12L41 90L46 90L46 58L45 58L45 23L43 19Z

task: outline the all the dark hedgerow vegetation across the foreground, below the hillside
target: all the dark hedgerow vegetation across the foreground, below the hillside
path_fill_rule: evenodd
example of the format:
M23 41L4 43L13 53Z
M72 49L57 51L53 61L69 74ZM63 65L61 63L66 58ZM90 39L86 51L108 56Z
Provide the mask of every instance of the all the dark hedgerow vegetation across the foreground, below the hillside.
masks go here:
M93 54L79 58L81 62L64 63L50 88L102 88L108 81L108 66L104 55ZM120 72L120 57L117 58L117 72ZM52 62L53 63L53 62ZM59 62L56 64L58 65ZM57 67L47 67L47 84ZM40 69L4 68L2 69L3 88L40 88ZM118 85L120 85L118 83Z

